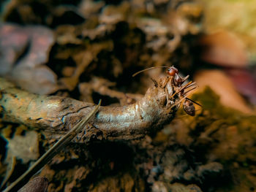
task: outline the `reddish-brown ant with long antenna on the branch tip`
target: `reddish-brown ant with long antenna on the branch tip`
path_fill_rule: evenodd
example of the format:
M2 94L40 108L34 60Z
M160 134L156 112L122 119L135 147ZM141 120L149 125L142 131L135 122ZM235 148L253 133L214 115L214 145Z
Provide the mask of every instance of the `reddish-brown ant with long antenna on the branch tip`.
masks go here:
M170 77L172 77L172 84L175 85L175 87L177 87L175 90L176 92L171 96L171 98L173 96L175 96L176 93L178 93L178 96L183 97L183 99L181 99L181 101L185 99L185 101L183 102L184 111L187 112L188 115L195 116L195 105L194 104L197 104L200 107L202 107L202 105L198 104L196 101L193 101L192 99L187 98L187 93L189 93L190 91L192 91L196 88L196 87L193 87L189 91L185 92L185 89L190 88L196 84L196 82L190 81L186 85L183 85L183 83L189 78L189 75L187 75L186 77L179 76L178 69L176 69L176 67L174 67L174 66L152 66L148 69L143 69L140 72L136 72L135 74L132 74L132 77L135 77L135 75L137 75L141 72L145 72L149 69L155 69L155 68L168 68L166 72L168 75L170 75ZM179 104L181 101L178 101L177 104ZM177 104L175 104L175 105L177 105Z

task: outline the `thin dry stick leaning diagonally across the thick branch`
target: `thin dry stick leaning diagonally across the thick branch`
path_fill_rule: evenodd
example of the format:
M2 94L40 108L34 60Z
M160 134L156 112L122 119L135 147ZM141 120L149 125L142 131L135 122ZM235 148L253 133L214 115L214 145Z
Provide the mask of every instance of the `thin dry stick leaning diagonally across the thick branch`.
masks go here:
M57 153L60 152L61 149L63 149L69 142L71 142L71 140L74 139L74 137L86 126L86 123L88 123L89 120L91 120L91 118L99 110L100 104L101 100L99 100L99 104L94 108L94 110L89 113L86 118L80 120L80 122L76 124L74 128L72 128L64 137L59 139L59 141L56 142L53 147L50 147L50 149L44 155L42 155L41 158L39 158L24 174L18 177L18 179L15 180L15 182L12 183L10 186L8 186L3 192L14 191L22 183L26 182L26 180L29 180L30 177L38 172L39 169L42 168L42 166L45 166L48 161L50 161Z

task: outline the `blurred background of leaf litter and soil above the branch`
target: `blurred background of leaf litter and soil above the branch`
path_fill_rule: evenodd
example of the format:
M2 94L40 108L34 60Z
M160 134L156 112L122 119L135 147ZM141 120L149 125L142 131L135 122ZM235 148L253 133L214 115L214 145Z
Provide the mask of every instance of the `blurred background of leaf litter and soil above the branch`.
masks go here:
M143 93L147 75L163 70L131 74L174 65L222 104L252 113L255 9L228 0L2 1L0 74L34 93L74 91L92 74Z

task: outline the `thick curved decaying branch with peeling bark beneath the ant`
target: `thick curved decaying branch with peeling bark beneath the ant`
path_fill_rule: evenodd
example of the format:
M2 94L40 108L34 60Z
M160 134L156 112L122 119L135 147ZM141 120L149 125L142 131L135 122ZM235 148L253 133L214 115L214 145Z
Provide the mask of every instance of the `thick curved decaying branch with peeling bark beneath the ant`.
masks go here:
M165 123L170 123L178 106L178 97L171 98L170 77L157 81L135 104L122 107L101 107L92 126L86 128L86 139L136 139ZM15 88L0 79L0 104L3 120L23 123L51 133L64 134L94 107L94 104L59 96L40 96ZM82 139L83 140L83 139Z

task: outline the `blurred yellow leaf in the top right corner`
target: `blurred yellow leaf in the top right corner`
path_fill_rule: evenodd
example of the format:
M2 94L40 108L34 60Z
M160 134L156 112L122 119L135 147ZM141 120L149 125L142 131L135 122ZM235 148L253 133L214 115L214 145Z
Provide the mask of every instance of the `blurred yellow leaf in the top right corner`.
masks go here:
M203 28L208 33L219 30L233 31L241 37L246 49L255 55L256 1L200 0L203 3Z

